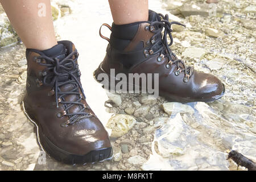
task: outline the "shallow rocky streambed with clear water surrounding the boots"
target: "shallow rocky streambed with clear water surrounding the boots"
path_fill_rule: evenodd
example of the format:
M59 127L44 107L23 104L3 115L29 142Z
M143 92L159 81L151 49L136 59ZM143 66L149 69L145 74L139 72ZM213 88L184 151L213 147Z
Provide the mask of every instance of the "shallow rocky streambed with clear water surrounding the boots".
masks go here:
M237 170L227 160L230 150L256 159L256 2L149 0L149 7L186 25L172 26L171 49L188 65L220 78L225 96L207 104L179 104L106 92L94 81L93 71L108 44L98 36L102 23L112 24L108 1L53 0L57 39L71 40L80 52L89 105L104 125L119 114L136 120L134 126L121 123L126 134L111 138L112 159L84 166L58 163L40 150L34 126L20 107L26 49L0 6L0 170ZM110 35L108 29L102 32Z

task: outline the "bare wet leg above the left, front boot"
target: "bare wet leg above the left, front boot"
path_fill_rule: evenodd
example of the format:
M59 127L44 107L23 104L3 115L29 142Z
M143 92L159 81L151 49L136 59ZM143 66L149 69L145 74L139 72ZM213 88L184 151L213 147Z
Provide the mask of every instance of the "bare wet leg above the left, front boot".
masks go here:
M0 0L27 48L49 49L57 44L50 0Z

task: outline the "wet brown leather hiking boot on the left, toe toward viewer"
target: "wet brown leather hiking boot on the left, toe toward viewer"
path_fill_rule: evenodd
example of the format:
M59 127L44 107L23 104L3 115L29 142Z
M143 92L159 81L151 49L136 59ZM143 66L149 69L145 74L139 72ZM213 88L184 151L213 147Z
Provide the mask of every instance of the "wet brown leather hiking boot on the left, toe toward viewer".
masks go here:
M112 153L108 133L85 101L78 56L69 41L26 51L24 110L38 127L39 144L68 164L98 162Z

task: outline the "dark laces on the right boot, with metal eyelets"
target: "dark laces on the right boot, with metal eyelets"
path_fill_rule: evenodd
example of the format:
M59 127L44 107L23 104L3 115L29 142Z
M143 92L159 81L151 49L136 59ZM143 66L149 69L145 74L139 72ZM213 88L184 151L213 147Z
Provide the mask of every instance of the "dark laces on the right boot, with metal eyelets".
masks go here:
M172 24L178 24L180 26L184 26L184 24L179 22L169 22L168 14L165 16L163 14L158 14L160 18L162 18L160 21L152 22L150 24L150 31L153 32L155 35L151 38L151 44L150 50L148 52L159 52L160 56L158 57L158 61L162 61L164 57L167 57L168 63L166 64L166 68L170 68L172 64L176 65L177 69L175 71L175 75L179 76L181 72L184 72L184 82L188 82L189 77L193 73L192 67L187 67L185 65L183 60L177 59L175 53L172 52L170 49L170 46L173 43L172 38ZM164 28L163 38L162 38L162 30ZM168 43L167 35L170 38L170 43ZM161 39L162 38L162 39ZM156 50L156 51L153 51Z

